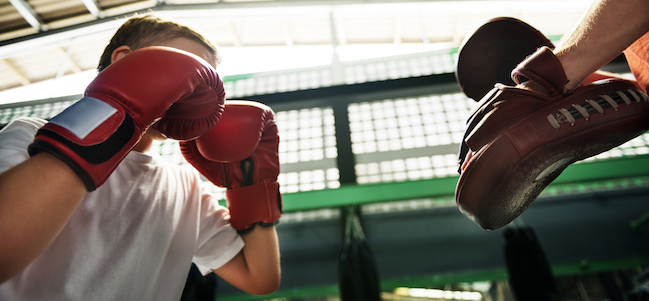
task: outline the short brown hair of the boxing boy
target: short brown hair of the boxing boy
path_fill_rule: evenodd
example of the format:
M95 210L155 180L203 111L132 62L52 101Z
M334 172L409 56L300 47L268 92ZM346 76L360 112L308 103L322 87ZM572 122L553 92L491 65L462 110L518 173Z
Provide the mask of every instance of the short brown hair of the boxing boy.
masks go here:
M145 14L135 15L120 26L104 49L97 70L101 72L111 64L112 53L120 46L127 45L135 50L174 38L187 38L202 44L212 52L218 63L219 53L216 46L198 31L155 14Z

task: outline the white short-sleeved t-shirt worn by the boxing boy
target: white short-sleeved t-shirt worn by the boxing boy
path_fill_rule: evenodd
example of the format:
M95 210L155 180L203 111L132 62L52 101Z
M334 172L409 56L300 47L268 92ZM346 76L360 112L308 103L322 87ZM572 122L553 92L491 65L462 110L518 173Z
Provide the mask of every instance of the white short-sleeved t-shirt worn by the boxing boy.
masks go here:
M0 131L0 172L29 157L44 124L19 118ZM179 300L192 262L206 274L242 247L198 174L131 152L54 242L0 285L0 300Z

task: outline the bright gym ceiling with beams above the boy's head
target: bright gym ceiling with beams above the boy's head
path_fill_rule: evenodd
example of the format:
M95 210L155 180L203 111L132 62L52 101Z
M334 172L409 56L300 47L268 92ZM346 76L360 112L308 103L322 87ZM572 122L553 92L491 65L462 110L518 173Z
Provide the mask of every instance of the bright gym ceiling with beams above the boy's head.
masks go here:
M588 5L571 1L0 0L0 91L94 69L116 28L154 11L219 47L432 44L457 47L489 18L564 33ZM561 10L557 6L561 5Z

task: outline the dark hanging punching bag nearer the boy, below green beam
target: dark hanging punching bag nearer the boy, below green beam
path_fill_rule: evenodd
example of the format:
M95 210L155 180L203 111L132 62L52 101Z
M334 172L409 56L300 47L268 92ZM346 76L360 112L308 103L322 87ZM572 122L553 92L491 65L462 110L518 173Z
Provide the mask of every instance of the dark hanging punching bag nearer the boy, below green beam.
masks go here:
M341 301L380 301L379 276L355 207L343 209L345 233L338 266Z

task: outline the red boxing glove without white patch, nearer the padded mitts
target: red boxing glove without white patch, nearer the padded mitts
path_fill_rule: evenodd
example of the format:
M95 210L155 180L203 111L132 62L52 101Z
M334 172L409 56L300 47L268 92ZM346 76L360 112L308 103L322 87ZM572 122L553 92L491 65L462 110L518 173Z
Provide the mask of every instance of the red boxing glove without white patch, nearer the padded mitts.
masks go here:
M230 224L246 233L282 215L279 136L275 114L251 101L226 101L219 123L205 135L180 143L185 159L203 176L227 188Z

